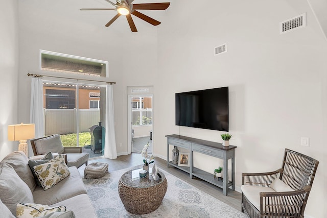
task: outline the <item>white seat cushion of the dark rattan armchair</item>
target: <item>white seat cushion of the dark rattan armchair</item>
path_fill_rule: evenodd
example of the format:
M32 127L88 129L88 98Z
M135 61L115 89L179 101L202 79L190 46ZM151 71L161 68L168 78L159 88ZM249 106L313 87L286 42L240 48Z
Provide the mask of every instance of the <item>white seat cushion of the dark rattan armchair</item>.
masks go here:
M260 211L260 192L275 192L270 187L242 185L241 190L243 195Z

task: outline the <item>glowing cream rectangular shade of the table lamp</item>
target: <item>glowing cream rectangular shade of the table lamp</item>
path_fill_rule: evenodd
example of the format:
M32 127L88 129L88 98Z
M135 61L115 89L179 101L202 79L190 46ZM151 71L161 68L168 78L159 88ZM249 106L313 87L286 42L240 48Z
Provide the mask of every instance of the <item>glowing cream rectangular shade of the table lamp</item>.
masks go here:
M8 140L20 141L35 138L35 124L16 124L8 126Z

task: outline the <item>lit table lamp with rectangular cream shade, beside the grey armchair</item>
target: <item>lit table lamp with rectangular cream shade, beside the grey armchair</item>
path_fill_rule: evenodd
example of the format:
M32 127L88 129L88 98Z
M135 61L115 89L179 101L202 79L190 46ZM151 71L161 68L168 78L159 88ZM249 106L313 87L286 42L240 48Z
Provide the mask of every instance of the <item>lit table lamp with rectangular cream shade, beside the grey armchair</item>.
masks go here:
M22 151L28 157L27 139L35 138L35 124L16 124L8 126L8 140L19 141L18 151Z

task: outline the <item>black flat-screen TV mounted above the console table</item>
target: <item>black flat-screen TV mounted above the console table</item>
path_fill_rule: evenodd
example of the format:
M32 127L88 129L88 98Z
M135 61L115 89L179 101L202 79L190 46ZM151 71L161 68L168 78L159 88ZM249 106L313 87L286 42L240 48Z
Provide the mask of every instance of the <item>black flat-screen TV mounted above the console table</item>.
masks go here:
M176 125L228 132L228 87L175 94Z

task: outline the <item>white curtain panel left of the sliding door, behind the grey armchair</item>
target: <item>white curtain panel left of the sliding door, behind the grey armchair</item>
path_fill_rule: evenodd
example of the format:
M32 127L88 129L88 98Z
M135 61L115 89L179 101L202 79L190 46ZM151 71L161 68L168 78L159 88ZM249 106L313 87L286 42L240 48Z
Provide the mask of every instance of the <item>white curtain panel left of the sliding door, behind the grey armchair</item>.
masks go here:
M32 78L30 123L35 124L35 138L44 136L42 78Z

